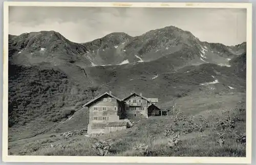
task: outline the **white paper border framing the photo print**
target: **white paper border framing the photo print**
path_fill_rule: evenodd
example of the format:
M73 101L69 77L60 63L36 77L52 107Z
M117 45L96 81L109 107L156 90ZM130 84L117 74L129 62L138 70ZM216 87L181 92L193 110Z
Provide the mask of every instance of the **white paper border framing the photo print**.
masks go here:
M242 8L247 10L246 31L246 157L125 157L125 156L13 156L8 155L8 29L9 6ZM4 2L3 52L3 161L98 163L251 163L252 150L252 4L251 3L123 3L123 2Z

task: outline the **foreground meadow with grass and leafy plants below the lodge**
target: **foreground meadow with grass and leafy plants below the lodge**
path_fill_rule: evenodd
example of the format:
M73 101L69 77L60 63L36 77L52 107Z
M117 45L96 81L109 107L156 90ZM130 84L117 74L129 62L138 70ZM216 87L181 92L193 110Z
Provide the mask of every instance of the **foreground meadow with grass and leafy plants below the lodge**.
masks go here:
M96 156L104 152L106 156L244 157L245 108L241 105L210 113L184 116L174 112L172 118L141 120L130 129L94 137L48 135L18 150L10 149L9 154ZM101 141L110 145L107 152L93 148Z

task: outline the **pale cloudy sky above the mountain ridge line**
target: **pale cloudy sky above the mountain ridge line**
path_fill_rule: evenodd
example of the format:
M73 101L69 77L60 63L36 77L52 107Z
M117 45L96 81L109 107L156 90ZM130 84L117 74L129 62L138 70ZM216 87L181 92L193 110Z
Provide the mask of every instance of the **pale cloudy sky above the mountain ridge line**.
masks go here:
M10 7L9 34L56 31L73 42L112 32L138 36L174 25L201 41L236 45L246 41L246 9Z

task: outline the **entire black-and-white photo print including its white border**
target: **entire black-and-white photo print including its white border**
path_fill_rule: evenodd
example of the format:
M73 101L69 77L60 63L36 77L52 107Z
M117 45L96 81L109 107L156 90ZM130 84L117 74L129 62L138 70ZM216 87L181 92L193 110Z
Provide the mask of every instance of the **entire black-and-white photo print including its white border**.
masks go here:
M248 162L250 4L81 4L7 6L8 156Z

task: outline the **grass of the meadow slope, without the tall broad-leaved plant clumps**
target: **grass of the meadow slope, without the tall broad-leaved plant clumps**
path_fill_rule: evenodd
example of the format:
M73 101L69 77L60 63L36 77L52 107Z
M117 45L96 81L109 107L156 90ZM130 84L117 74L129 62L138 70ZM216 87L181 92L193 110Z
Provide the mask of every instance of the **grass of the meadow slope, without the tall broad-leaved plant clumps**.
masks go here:
M164 117L142 120L132 128L98 137L77 135L64 138L59 133L43 134L31 139L9 143L9 154L14 155L96 155L91 145L99 140L112 144L109 155L143 156L132 147L139 144L149 146L147 156L245 156L245 145L236 142L234 132L245 132L245 94L199 95L200 99L185 96L177 100L177 107L188 119L174 120ZM194 99L193 99L194 98ZM218 102L216 102L218 101ZM205 104L207 103L207 104ZM220 121L230 116L234 121L231 132L221 130ZM197 130L196 124L203 126ZM167 146L165 128L173 126L180 132L177 151ZM206 127L208 125L208 127ZM225 143L220 146L217 133L225 133ZM50 135L56 135L50 137ZM53 147L51 147L51 145Z

